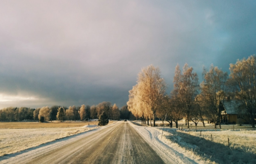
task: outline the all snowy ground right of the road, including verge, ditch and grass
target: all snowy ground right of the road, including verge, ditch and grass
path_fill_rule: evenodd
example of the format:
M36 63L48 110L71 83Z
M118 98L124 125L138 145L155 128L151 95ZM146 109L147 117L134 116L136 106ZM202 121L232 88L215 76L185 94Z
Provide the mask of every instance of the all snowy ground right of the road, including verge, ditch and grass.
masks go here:
M172 157L177 163L255 164L256 162L255 130L202 129L200 136L200 131L179 131L166 127L162 136L162 128L135 125L133 127L155 147L162 158ZM230 140L230 147L227 138Z

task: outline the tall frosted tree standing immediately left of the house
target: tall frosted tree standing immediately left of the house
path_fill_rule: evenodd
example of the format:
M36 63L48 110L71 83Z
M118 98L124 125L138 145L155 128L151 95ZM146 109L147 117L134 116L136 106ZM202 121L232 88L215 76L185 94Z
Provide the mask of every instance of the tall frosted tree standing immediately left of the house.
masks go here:
M203 96L201 100L208 104L208 114L215 123L216 128L217 124L220 126L221 101L222 103L225 101L228 75L226 72L211 65L209 71L203 68L203 77L204 80L200 84L202 88L201 95Z

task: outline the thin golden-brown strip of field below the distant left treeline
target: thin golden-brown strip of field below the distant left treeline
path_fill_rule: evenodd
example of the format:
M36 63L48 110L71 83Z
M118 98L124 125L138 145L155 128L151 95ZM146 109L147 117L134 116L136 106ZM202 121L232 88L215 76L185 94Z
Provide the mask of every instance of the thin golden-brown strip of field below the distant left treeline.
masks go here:
M89 122L89 124L97 125L98 122ZM85 125L88 125L88 122L0 122L0 129L68 128L83 127Z

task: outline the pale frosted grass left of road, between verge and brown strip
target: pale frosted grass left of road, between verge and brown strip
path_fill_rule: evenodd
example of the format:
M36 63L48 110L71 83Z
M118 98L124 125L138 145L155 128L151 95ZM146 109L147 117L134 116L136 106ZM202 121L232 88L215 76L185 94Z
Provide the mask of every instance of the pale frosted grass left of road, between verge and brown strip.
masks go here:
M88 130L89 127L0 129L0 156L26 150Z

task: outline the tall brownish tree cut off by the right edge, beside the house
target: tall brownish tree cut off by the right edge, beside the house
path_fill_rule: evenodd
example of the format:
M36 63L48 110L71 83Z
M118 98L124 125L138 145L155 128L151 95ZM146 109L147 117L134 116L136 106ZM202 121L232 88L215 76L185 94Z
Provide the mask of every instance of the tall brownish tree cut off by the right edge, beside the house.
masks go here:
M236 93L237 100L245 107L244 112L250 118L253 128L256 119L256 56L237 60L230 64L230 84Z

